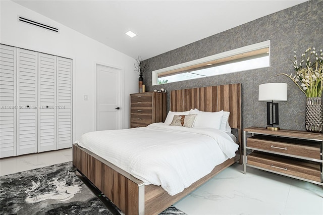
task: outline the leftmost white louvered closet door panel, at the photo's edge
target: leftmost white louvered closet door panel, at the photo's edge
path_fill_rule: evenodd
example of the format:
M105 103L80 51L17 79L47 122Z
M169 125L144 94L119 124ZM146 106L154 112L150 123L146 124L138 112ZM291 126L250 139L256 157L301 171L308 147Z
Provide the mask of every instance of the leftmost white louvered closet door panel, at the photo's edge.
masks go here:
M16 155L17 48L0 44L0 157Z

